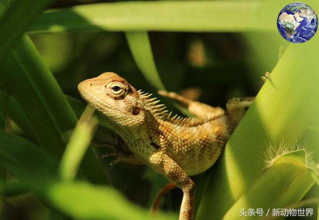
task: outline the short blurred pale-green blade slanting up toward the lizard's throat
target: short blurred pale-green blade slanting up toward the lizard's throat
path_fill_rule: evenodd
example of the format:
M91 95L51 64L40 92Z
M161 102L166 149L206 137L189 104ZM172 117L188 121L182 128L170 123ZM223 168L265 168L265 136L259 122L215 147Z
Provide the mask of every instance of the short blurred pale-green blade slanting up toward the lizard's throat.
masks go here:
M92 117L93 112L93 107L88 106L72 132L60 162L59 173L62 179L71 180L77 174L98 122L97 118Z

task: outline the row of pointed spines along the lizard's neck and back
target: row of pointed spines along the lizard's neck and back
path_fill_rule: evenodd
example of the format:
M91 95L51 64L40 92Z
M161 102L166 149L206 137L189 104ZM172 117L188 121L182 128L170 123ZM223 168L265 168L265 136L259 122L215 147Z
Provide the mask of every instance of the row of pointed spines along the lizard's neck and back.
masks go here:
M160 100L157 100L157 98L150 98L153 94L145 93L142 90L139 90L138 93L140 95L141 101L145 104L146 108L149 109L156 118L168 121L172 124L193 127L224 116L224 114L220 114L214 115L212 117L207 117L205 119L183 117L178 114L171 116L172 112L168 112L168 110L165 110L166 106L164 104L158 104Z

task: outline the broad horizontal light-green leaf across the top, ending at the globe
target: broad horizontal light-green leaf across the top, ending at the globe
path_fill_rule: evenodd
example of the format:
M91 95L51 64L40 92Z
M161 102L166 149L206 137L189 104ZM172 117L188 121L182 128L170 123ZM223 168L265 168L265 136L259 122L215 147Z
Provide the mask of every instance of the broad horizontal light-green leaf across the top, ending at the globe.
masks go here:
M49 10L32 34L79 31L276 31L279 11L289 0L128 1Z

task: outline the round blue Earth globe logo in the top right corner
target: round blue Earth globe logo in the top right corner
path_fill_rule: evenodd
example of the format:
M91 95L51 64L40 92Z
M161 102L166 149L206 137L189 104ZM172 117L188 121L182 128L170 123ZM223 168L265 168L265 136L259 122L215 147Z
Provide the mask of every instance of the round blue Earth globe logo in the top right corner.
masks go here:
M295 2L279 12L277 27L282 37L289 42L304 43L315 35L318 17L308 4Z

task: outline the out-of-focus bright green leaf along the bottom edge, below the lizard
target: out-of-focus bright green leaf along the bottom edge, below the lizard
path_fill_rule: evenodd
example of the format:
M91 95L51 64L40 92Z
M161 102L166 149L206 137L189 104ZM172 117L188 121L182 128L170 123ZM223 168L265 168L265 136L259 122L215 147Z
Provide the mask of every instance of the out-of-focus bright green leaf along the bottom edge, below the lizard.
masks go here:
M174 220L172 215L150 216L111 187L84 182L30 184L30 188L54 209L81 220Z

